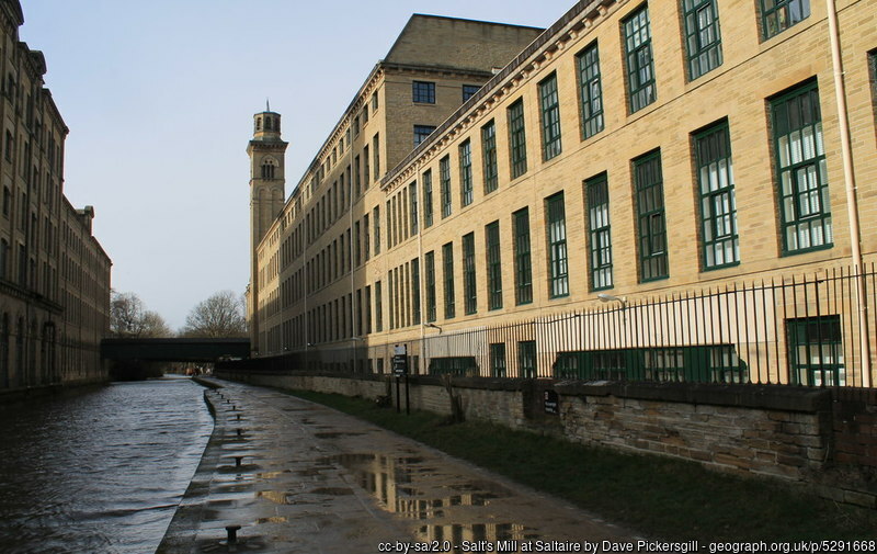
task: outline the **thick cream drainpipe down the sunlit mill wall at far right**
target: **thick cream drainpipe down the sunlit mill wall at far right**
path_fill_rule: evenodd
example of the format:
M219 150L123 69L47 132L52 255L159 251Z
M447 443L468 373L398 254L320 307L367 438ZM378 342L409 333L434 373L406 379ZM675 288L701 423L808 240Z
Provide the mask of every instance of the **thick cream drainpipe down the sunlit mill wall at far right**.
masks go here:
M829 20L829 42L831 44L831 66L834 71L834 99L838 102L838 125L841 134L841 159L843 160L843 180L846 189L846 214L850 219L851 257L856 276L856 303L858 304L858 338L862 352L862 386L870 387L870 346L868 342L868 305L865 292L862 260L862 230L858 226L858 200L856 196L855 171L853 169L853 151L850 145L848 112L846 110L846 86L843 77L843 59L841 58L841 35L838 26L838 9L834 0L827 0Z

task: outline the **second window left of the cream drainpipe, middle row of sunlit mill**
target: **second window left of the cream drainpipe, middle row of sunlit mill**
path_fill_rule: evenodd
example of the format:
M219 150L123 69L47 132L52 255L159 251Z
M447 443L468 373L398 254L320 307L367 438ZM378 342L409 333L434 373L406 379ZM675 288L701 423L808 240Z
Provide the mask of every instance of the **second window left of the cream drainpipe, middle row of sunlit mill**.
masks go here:
M730 143L727 122L694 136L702 253L707 270L740 263Z

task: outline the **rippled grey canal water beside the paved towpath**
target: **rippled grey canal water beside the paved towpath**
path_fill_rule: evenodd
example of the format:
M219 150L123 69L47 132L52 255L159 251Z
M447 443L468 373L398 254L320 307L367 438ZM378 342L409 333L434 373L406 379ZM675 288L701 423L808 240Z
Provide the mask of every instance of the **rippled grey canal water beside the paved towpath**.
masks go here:
M0 406L0 552L152 553L213 430L164 377Z

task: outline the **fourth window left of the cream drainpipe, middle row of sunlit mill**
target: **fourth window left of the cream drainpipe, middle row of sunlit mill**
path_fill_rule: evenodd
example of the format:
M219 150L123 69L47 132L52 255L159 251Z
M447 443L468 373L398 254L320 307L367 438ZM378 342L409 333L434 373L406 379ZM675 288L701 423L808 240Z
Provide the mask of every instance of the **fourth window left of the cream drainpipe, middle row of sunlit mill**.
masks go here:
M606 173L584 182L588 202L588 246L591 253L591 290L612 289L612 225Z

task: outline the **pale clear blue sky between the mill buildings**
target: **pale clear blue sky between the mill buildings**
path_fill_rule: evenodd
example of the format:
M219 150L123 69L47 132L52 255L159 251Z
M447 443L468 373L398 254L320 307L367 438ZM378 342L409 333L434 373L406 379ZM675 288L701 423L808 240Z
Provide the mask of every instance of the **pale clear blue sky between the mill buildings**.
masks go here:
M572 0L22 0L113 286L172 328L249 280L252 114L283 114L287 194L412 13L548 26Z

